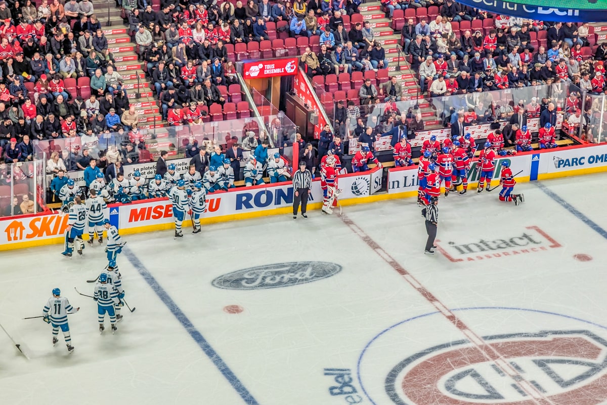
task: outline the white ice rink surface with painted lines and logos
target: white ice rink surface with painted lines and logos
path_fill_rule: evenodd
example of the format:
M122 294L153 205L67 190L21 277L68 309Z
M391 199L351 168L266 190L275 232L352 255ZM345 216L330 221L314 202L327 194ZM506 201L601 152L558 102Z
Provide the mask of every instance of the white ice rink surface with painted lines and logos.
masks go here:
M124 236L118 332L98 333L103 248L1 254L1 404L607 403L605 175ZM299 263L299 264L294 264ZM250 269L246 271L240 271ZM40 319L54 287L75 352ZM108 324L109 321L106 321Z

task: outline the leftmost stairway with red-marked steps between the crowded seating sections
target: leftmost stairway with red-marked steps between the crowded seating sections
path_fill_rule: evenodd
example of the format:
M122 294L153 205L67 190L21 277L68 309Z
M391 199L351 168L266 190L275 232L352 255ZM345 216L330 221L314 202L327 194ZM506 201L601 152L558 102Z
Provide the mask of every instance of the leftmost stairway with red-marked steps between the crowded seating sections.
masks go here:
M126 87L129 100L131 104L135 104L140 114L139 128L163 127L151 83L143 71L143 62L137 60L136 45L131 42L131 37L127 34L126 26L120 16L120 9L115 7L114 1L92 1L95 15L98 16L106 35L110 52L114 53L118 72L124 78L124 87Z

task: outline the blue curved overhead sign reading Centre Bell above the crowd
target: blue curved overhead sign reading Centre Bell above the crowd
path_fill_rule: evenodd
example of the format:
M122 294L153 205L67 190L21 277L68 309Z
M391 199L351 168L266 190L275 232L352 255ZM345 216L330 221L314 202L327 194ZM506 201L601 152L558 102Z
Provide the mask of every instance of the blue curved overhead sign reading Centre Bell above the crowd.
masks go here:
M607 21L607 0L458 0L458 2L490 13L541 21Z

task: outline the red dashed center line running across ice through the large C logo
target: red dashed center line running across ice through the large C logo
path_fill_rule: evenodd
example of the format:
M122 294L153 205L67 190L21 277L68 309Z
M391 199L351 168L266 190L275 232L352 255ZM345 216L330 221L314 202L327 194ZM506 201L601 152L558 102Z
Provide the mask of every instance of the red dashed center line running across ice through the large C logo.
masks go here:
M381 257L388 265L390 265L390 267L392 267L399 274L401 274L405 281L407 281L407 283L409 283L411 287L415 288L415 290L417 290L418 293L426 299L426 301L430 302L430 304L432 304L432 306L435 307L436 310L443 314L447 321L449 321L451 324L453 324L453 326L461 330L461 332L466 336L466 338L468 338L468 340L473 345L475 345L476 349L478 349L488 361L492 361L495 366L499 367L504 373L510 376L510 378L514 380L515 384L517 384L517 386L520 387L520 389L523 390L524 393L529 395L535 403L537 403L538 405L554 405L554 403L552 403L551 400L546 398L544 394L537 389L537 387L526 381L523 376L521 376L517 372L517 370L512 367L512 365L510 365L506 358L504 358L504 356L501 355L497 351L497 349L495 349L495 347L486 344L483 338L476 335L476 333L474 333L472 329L467 327L467 325L464 324L464 322L459 319L451 310L449 310L446 305L444 305L438 298L436 298L434 294L430 293L430 291L428 291L427 288L424 287L419 281L417 281L415 277L413 277L413 275L409 273L409 271L405 270L404 267L402 267L398 262L396 262L396 260L392 256L390 256L390 254L385 251L384 248L379 246L379 244L375 242L375 240L371 239L371 237L368 236L368 234L365 233L365 231L362 230L360 226L356 225L356 223L354 223L353 220L351 220L345 214L342 214L341 216L339 216L339 218L342 220L342 222L345 223L345 225L348 226L348 228L350 228L351 231L358 235L358 237L360 237L363 242L367 243L368 247L375 251L375 253L379 257Z

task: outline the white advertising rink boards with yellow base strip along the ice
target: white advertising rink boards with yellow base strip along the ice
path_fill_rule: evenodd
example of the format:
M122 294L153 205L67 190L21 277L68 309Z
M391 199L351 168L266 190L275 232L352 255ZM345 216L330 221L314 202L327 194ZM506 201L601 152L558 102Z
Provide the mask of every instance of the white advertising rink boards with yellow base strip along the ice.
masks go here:
M580 145L555 151L543 150L499 157L493 173L493 186L498 183L503 161L510 163L512 172L521 171L516 176L517 182L591 174L607 171L607 145ZM475 164L473 162L472 166ZM342 189L339 198L341 204L352 205L417 195L417 167L388 169L387 194L373 194L381 188L381 174L381 169L376 168L364 174L342 175L339 180ZM469 188L475 189L477 182L477 172L472 167ZM322 191L319 180L313 182L311 197L308 207L320 209ZM207 195L208 211L201 223L288 214L292 203L291 182L215 192ZM117 226L123 234L166 230L174 226L168 199L144 200L129 205L115 204L111 206L109 218L112 225ZM191 226L191 222L186 220L185 226ZM64 214L37 214L0 220L0 251L64 243L66 227ZM84 233L86 235L87 230Z

